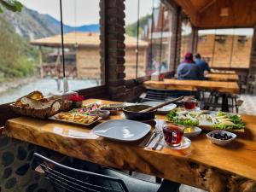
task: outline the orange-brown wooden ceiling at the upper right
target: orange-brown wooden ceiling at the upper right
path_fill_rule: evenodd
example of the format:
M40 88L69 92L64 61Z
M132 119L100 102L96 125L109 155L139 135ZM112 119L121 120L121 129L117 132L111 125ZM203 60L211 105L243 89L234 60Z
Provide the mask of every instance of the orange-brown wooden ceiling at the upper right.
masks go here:
M174 0L199 28L253 27L256 0Z

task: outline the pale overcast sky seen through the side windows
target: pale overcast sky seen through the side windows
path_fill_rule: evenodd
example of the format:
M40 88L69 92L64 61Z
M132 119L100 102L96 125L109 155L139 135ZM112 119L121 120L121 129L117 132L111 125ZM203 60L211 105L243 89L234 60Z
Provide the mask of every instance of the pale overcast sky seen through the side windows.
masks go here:
M59 0L20 0L27 8L37 10L40 14L49 14L60 20ZM158 2L158 0L154 0ZM76 6L75 6L76 4ZM99 22L99 0L62 0L63 22L70 26L92 24ZM126 23L137 20L137 0L126 0ZM75 16L75 8L76 15ZM141 0L141 15L150 14L152 10L152 0Z

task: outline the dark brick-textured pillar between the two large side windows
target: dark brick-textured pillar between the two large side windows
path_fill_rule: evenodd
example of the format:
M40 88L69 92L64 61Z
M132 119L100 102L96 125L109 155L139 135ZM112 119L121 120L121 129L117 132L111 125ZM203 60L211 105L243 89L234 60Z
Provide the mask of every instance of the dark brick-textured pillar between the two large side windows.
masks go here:
M104 83L112 100L125 94L125 0L101 0L101 63Z

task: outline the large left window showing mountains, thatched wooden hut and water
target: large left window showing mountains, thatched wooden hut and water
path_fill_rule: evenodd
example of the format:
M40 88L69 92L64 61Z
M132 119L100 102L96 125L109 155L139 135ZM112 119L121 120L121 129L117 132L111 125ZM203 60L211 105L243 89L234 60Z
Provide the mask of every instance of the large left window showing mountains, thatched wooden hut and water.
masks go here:
M65 75L69 90L102 84L100 0L62 0ZM32 90L62 90L59 0L20 0L20 13L0 17L0 103Z

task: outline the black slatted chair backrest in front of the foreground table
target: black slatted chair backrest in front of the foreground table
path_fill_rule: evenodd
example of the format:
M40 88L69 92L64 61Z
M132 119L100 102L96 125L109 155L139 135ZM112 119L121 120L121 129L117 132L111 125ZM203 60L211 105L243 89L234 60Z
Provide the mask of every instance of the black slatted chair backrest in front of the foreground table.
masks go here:
M129 192L119 178L64 166L37 153L34 159L56 192Z

